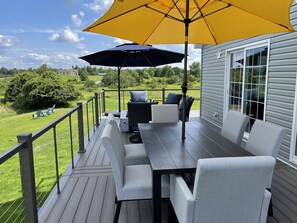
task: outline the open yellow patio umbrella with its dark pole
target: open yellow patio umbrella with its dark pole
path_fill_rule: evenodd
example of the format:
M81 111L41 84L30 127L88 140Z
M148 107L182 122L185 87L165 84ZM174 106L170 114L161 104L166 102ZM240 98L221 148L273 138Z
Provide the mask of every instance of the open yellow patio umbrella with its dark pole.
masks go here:
M139 44L220 44L268 33L294 31L292 0L115 0L111 8L84 31ZM183 113L187 93L184 60ZM185 138L185 115L182 138Z

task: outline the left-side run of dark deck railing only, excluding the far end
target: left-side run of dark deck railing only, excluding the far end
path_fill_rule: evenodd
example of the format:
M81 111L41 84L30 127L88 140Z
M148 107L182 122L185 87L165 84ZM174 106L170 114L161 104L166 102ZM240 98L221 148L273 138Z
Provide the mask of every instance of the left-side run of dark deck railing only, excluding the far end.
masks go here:
M44 194L42 190L46 185L42 183L50 177L42 176L42 180L39 180L38 184L36 184L36 175L40 175L39 172L42 173L41 175L49 174L44 173L43 169L47 169L47 165L53 166L55 180L54 183L51 183L50 188L53 188L56 184L57 193L60 193L59 180L65 168L61 168L59 165L62 163L64 166L68 166L71 163L72 168L74 168L73 157L75 148L77 148L79 153L85 152L85 139L86 142L87 140L89 141L92 132L99 126L99 119L103 111L103 97L104 92L96 93L86 102L77 103L75 108L39 131L19 134L17 136L18 144L0 154L0 222L38 222L38 207L42 206L50 192L48 191ZM77 118L74 118L75 114ZM68 130L65 132L66 125ZM60 126L63 126L61 127L63 133L58 131ZM52 132L51 136L49 136L50 132ZM63 136L59 137L60 135ZM42 145L40 145L38 140L40 141L42 137L47 137L47 139L41 140ZM69 138L68 140L65 139L67 137ZM62 143L59 143L59 140ZM49 141L52 141L52 143L49 143ZM65 143L66 141L67 143ZM45 162L40 162L40 159L44 156L42 153L48 155L47 150L50 150L50 153L52 153L50 155L54 157L54 165L51 160L47 159L45 159ZM63 158L65 150L69 154L68 157L70 159ZM17 159L17 155L19 159ZM18 161L19 165L16 164ZM7 175L10 169L16 166L19 166L20 171L20 185L18 187L13 185L15 182L9 183L10 179L14 178L15 180L17 174L11 173L10 176ZM11 201L11 198L6 196L10 194L8 193L10 189L22 191L22 194L15 195L15 200Z

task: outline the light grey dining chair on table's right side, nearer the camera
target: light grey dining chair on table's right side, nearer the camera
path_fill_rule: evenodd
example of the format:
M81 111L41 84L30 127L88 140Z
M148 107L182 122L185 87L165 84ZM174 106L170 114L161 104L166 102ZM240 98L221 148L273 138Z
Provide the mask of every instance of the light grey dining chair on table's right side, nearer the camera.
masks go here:
M276 158L287 130L270 122L256 120L245 149L256 156L272 156ZM272 176L266 182L266 188L271 189ZM272 200L269 205L269 216L273 215Z

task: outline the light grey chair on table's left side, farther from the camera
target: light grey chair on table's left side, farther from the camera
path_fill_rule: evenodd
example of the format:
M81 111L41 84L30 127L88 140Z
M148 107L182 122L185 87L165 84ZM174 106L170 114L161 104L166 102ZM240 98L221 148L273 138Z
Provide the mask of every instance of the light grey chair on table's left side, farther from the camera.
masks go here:
M124 157L125 165L149 164L143 143L124 144L122 134L113 114L108 114L107 123L111 124L113 131L115 131L116 136L113 138L114 146L122 154L121 156Z

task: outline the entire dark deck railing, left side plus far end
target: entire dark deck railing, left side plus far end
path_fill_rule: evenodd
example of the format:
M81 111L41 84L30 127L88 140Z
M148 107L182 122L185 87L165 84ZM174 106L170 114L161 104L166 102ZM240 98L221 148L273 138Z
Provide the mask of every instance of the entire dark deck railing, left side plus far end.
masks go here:
M122 110L130 99L129 91L121 90ZM180 89L148 90L149 98L164 101L168 91ZM199 89L189 89L192 91ZM117 90L95 93L37 132L19 134L18 143L0 154L0 222L38 222L38 207L54 186L60 193L60 177L69 164L74 168L75 151L84 153L101 117L118 109L111 101L117 98L113 94ZM199 93L192 95L199 101Z

